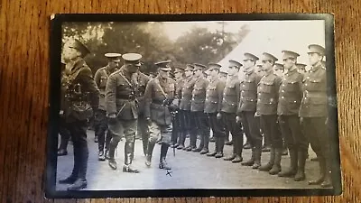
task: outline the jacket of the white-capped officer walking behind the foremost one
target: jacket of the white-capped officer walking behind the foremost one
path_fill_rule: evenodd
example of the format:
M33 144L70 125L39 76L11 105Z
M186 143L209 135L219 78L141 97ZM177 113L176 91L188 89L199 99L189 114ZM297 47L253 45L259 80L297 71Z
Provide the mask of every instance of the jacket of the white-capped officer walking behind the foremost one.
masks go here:
M94 76L94 79L97 83L97 88L99 88L100 91L100 97L99 97L99 109L106 111L106 81L107 78L109 78L109 75L111 72L107 71L106 67L97 69L96 75Z

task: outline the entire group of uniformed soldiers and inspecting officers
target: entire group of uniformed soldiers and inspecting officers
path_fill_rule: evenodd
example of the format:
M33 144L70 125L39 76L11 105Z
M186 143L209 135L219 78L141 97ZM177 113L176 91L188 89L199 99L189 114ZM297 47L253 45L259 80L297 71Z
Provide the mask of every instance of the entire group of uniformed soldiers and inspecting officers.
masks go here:
M228 129L233 153L225 161L243 161L245 134L252 156L242 165L294 180L306 178L304 169L310 142L318 156L320 171L319 179L311 180L310 184L329 187L326 71L322 62L325 50L316 44L309 49L311 69L304 76L296 66L299 54L293 51L282 51L283 67L287 70L282 78L273 73L277 59L272 54L263 54L261 76L255 72L259 59L245 53L243 63L229 60L226 81L218 79L221 66L214 63L189 64L185 69L176 67L174 80L170 78L168 60L155 63L158 75L149 78L139 70L142 55L108 53L108 65L98 69L93 79L83 60L88 48L78 40L66 43L63 55L67 68L63 76L67 82L62 83L66 84L62 102L66 105L62 106L60 115L74 145L74 167L70 176L60 183L71 184L70 190L87 187L86 128L94 112L98 159L108 159L114 170L116 147L125 136L123 171L139 172L132 166L136 129L142 134L145 164L151 166L153 148L159 141L162 144L159 168L167 170L171 169L165 161L171 143L177 149L223 157ZM116 69L120 57L124 65ZM208 79L204 76L206 71ZM239 71L245 72L242 81L238 78ZM208 150L210 129L216 141L214 152ZM272 146L270 160L265 165L261 165L261 131ZM188 135L190 144L185 146ZM282 138L291 157L288 169L281 168Z

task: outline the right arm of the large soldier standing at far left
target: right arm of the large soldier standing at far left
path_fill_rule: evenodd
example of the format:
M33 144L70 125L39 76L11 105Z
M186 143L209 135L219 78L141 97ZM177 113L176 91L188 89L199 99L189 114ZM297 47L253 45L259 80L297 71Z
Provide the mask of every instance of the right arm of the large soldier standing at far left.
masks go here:
M89 93L90 106L93 109L97 109L99 106L99 89L94 81L91 70L89 68L80 70L79 80L83 83L85 91Z

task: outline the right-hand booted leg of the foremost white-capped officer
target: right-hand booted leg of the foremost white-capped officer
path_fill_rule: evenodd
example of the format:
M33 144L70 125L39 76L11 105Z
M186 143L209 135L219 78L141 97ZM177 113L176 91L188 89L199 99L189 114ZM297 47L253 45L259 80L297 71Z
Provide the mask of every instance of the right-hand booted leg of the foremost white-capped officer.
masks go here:
M122 120L122 123L125 134L125 164L123 166L123 171L138 173L139 171L132 167L137 120Z

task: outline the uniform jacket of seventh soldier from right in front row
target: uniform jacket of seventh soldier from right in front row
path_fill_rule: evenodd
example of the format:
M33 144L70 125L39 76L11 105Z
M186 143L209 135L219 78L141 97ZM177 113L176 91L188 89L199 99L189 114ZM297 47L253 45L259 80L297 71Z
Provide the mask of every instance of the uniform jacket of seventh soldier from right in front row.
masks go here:
M206 101L206 89L209 81L207 78L200 77L194 83L192 98L190 102L190 111L204 111L204 103Z

